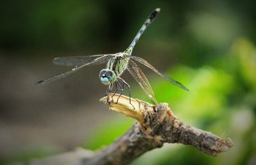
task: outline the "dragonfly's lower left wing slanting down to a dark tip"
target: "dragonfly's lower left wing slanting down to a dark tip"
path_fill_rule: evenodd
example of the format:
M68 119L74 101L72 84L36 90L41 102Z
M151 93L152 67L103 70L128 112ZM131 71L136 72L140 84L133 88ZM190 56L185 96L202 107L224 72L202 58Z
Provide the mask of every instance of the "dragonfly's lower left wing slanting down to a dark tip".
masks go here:
M104 55L104 56L100 56L99 58L93 59L93 61L91 61L90 63L86 63L86 64L81 65L79 67L72 68L72 70L70 70L68 72L65 72L65 73L60 74L60 75L56 75L56 76L51 77L49 79L38 81L38 83L36 83L36 85L44 85L46 83L50 83L52 81L62 79L63 77L66 77L67 75L70 75L70 74L76 72L77 70L80 70L81 68L86 67L88 65L93 65L93 64L96 65L96 64L102 63L102 61L108 61L108 59L110 59L112 56L113 56L113 54L107 54L107 55Z

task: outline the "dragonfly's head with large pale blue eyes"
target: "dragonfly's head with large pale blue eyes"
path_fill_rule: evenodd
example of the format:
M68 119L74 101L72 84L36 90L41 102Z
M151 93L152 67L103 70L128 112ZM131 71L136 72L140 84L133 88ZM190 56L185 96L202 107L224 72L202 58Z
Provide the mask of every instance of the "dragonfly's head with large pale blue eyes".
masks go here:
M109 85L116 81L116 74L109 69L102 69L100 70L100 81L102 84Z

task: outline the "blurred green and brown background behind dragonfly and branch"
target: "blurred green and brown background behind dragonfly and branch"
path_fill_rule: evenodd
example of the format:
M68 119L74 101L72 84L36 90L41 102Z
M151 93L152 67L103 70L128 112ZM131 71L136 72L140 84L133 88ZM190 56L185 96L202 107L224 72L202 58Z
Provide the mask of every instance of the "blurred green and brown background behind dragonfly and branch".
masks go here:
M133 55L189 88L180 90L141 67L159 102L185 123L231 138L228 152L210 157L193 146L169 145L136 164L256 164L255 1L3 1L0 5L0 163L29 161L82 146L113 143L133 119L99 103L106 86L87 67L69 70L57 56L124 51L154 8L159 16ZM132 97L148 100L129 73Z

